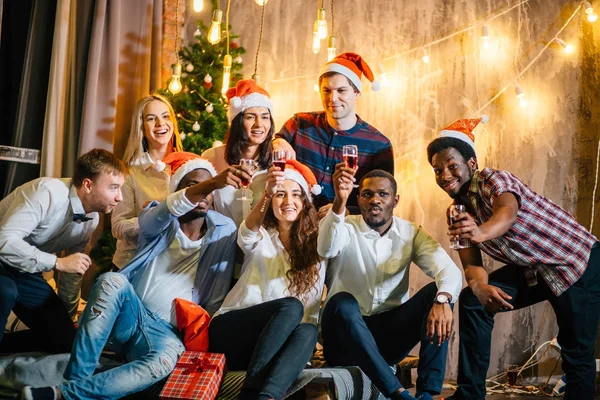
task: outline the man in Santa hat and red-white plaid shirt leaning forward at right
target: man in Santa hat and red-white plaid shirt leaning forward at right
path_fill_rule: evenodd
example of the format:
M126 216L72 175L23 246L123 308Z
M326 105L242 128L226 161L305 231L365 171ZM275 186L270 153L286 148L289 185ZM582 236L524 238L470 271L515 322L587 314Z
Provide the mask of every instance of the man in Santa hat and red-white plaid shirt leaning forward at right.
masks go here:
M507 171L478 170L472 129L459 120L427 147L438 185L463 204L449 228L468 287L459 297L458 390L447 399L485 399L494 316L548 300L559 327L565 399L594 398L600 317L597 239L575 218ZM506 263L488 274L481 251Z

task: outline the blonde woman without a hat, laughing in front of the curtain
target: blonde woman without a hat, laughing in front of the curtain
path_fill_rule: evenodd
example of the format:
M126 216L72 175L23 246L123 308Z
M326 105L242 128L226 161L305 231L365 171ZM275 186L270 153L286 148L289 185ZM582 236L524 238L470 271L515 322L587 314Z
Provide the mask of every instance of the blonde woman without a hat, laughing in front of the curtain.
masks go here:
M121 269L133 258L137 244L138 215L151 200L169 194L169 171L163 159L183 146L175 111L158 94L138 101L131 119L131 131L123 161L129 176L123 185L123 201L112 213L112 234L117 239L114 267Z

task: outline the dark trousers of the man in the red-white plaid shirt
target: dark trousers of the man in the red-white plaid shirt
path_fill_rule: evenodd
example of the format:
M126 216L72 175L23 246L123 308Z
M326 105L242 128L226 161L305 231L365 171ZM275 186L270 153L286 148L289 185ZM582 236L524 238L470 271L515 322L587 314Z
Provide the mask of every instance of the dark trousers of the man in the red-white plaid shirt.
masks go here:
M592 249L588 267L579 280L556 297L538 276L528 286L523 267L505 265L492 272L489 284L510 296L515 310L548 300L556 314L562 368L567 375L565 400L592 400L596 379L594 343L600 318L600 247ZM473 291L464 288L459 297L459 358L456 399L485 399L485 379L495 314L486 311Z

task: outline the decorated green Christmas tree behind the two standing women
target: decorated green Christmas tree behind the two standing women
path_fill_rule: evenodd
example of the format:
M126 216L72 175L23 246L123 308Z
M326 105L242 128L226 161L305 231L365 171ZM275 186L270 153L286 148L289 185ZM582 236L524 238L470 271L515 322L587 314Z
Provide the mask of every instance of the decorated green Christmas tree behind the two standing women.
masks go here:
M172 94L167 89L160 90L175 109L183 147L196 154L212 147L215 140L222 141L229 128L227 101L222 93L227 37L222 32L221 41L213 45L208 41L206 32L206 25L199 21L194 41L179 52L179 62L183 67L181 92ZM229 54L233 62L229 87L234 87L243 77L241 55L246 50L231 41L237 37L230 33Z

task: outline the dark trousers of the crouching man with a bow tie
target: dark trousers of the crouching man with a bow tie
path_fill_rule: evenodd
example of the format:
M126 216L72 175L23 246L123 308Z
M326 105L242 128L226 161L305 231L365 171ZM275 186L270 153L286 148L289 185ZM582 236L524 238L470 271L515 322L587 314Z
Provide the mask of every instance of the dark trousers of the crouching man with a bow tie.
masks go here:
M11 311L30 329L3 337ZM75 339L73 321L41 272L20 272L1 263L0 326L0 353L68 353Z

